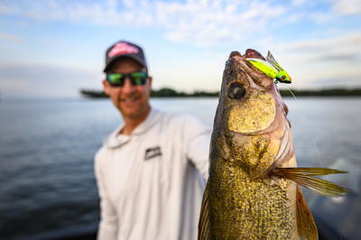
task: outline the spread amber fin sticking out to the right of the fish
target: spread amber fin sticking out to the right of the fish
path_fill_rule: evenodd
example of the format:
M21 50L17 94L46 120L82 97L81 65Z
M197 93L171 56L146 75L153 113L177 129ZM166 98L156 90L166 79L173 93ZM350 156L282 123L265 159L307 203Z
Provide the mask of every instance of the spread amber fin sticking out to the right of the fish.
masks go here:
M276 168L274 174L288 180L293 180L303 187L316 191L325 197L340 197L348 193L347 189L327 181L320 180L313 176L328 175L334 173L347 173L326 168Z

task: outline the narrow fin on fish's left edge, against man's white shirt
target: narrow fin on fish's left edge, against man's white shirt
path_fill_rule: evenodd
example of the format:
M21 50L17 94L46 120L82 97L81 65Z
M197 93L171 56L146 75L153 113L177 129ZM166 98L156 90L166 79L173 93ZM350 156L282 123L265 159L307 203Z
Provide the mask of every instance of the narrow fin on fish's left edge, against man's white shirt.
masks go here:
M202 207L200 208L198 240L210 240L208 186L209 181L207 181L206 189L204 189Z

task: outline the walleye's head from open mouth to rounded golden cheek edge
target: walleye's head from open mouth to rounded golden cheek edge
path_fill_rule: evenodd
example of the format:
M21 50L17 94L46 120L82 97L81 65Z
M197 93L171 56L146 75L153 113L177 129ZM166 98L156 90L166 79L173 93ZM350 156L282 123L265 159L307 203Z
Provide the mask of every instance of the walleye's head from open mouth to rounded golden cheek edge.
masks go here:
M247 54L260 55L253 50L247 50L245 56L237 51L230 54L219 94L221 127L238 134L264 131L272 125L278 104L283 105L273 78L245 60Z

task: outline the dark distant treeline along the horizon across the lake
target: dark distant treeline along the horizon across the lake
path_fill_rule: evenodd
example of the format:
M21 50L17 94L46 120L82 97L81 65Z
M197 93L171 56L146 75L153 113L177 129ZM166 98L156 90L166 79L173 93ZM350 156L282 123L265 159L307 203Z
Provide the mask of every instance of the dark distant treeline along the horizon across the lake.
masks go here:
M280 90L282 97L292 97L289 90ZM296 90L292 89L292 93L296 97L361 97L361 88L346 89L346 88L330 88L320 90ZM104 91L81 89L80 94L84 97L103 98L107 97ZM194 91L193 93L177 92L171 88L161 88L159 90L152 90L151 97L218 97L217 92Z

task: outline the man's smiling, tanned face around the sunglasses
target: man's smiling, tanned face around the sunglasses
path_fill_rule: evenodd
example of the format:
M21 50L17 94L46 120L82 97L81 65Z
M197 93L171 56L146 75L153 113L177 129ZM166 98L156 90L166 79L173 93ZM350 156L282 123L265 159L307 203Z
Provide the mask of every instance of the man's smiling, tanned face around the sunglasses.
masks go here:
M131 73L142 71L142 66L131 59L116 60L109 73ZM112 99L113 104L127 119L142 119L150 111L149 96L151 93L152 78L147 78L144 85L134 86L129 78L125 78L123 87L112 87L103 80L105 93Z

